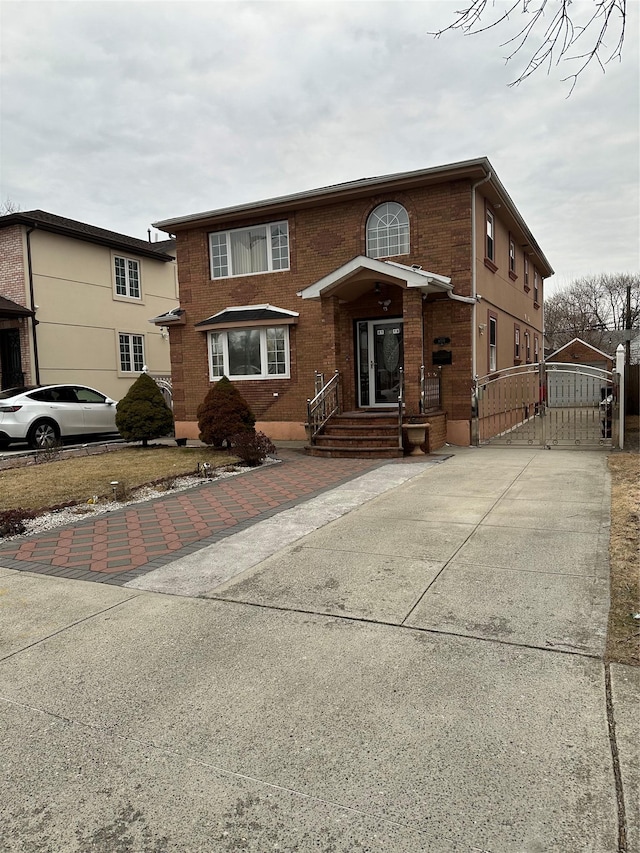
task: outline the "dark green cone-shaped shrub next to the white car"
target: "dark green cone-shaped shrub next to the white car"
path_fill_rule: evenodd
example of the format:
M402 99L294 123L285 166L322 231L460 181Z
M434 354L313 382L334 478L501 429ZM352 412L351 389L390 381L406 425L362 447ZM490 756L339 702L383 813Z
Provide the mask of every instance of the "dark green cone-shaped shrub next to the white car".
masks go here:
M141 373L118 403L116 427L125 441L141 441L168 435L173 414L162 392L147 373Z

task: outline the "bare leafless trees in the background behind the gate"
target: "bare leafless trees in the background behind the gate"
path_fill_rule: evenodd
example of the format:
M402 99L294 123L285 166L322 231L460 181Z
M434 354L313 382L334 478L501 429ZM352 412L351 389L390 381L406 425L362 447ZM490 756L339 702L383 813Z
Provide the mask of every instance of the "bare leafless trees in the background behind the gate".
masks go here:
M631 311L627 323L627 287ZM640 274L585 276L554 293L544 303L545 336L553 349L573 338L613 352L620 340L615 332L640 327Z

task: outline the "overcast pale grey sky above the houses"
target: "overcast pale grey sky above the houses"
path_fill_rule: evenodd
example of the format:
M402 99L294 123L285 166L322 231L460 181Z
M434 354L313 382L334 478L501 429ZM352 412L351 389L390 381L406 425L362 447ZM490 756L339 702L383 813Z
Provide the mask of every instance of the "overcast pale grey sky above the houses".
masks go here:
M522 14L434 39L463 2L0 0L0 201L146 238L165 218L487 156L554 287L637 271L638 0L622 62L570 97L567 63L509 88L523 62L501 42Z

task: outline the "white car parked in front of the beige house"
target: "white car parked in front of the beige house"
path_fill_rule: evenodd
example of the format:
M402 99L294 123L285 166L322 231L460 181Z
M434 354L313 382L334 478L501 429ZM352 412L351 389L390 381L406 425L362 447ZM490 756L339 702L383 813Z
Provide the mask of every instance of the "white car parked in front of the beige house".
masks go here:
M0 449L27 441L34 449L75 435L117 433L116 401L85 385L0 391Z

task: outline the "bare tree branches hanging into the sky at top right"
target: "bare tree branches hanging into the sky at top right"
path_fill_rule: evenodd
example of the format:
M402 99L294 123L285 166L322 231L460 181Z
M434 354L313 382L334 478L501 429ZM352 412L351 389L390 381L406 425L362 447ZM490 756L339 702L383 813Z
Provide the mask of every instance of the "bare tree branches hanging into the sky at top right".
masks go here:
M621 58L626 7L627 0L473 0L455 13L452 23L431 35L438 38L455 30L473 35L511 25L511 34L501 44L507 49L505 61L523 53L528 60L509 85L522 83L540 67L548 73L553 65L570 61L575 70L564 80L571 81L571 94L588 65L595 63L604 71L607 63Z

